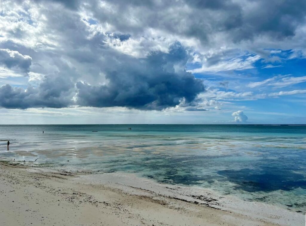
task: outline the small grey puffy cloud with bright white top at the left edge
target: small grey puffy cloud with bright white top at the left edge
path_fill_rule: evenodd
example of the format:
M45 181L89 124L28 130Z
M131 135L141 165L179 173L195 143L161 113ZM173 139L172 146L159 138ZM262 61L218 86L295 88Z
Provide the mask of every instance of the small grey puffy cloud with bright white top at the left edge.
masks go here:
M6 68L29 72L31 64L32 58L27 55L22 55L18 51L9 49L0 49L0 65Z

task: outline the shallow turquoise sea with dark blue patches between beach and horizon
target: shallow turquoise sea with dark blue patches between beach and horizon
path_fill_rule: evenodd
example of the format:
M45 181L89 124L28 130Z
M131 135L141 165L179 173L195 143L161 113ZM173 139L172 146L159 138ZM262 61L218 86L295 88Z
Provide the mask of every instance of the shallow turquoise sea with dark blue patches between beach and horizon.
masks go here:
M1 125L0 140L6 161L134 173L305 212L304 125Z

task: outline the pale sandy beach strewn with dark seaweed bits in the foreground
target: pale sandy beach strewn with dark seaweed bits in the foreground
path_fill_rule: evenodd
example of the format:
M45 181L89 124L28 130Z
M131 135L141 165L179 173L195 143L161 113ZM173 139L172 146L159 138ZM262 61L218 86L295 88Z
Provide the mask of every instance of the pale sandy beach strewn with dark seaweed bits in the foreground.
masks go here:
M124 173L0 162L1 225L304 225L305 215ZM32 224L31 224L32 223Z

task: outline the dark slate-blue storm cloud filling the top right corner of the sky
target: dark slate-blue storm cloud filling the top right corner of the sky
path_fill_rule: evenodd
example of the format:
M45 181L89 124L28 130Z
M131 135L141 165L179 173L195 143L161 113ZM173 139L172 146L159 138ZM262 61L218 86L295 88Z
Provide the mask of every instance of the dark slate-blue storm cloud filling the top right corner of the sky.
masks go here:
M249 3L253 8L244 12L243 24L233 33L238 41L262 34L284 39L293 36L297 27L305 23L306 1L260 0Z

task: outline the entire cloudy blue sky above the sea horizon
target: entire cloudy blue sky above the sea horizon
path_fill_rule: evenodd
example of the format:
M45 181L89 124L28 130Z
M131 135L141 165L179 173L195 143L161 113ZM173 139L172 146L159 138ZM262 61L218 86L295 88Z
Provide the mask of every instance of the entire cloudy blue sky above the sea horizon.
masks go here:
M0 5L0 124L306 124L304 0Z

